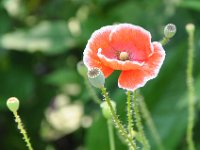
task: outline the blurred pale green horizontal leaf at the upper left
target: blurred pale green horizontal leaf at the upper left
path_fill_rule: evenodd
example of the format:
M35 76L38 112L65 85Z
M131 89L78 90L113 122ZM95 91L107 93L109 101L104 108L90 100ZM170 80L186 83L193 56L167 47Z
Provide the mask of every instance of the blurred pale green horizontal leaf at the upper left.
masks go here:
M75 45L67 23L43 21L28 30L18 30L2 36L0 46L9 50L58 54Z

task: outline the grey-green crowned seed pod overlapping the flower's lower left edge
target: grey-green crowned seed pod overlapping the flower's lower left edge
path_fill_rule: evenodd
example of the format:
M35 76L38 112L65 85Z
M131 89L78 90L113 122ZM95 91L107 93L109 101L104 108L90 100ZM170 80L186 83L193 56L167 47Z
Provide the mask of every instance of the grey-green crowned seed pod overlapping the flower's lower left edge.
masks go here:
M103 88L105 83L105 77L102 71L95 67L88 71L88 79L90 83L96 88Z

